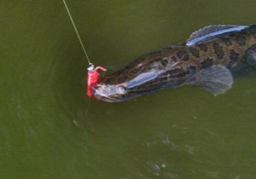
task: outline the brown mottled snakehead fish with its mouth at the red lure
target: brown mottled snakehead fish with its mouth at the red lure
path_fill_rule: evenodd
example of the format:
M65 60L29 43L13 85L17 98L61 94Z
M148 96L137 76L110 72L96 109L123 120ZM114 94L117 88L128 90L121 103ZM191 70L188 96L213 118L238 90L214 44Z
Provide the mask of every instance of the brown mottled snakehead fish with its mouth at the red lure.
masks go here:
M161 48L104 76L94 97L122 102L159 90L193 85L217 96L232 88L233 73L256 66L256 24L212 25L186 42Z

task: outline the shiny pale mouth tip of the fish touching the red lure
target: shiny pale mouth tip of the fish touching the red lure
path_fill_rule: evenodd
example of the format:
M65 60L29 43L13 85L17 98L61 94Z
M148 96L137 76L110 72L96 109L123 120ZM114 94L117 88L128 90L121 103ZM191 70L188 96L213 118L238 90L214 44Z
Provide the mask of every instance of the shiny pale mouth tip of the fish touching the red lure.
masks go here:
M94 87L92 87L92 92L94 94L94 97L100 101L105 101L108 103L117 103L122 101L117 98L113 98L111 95L108 95L109 92L107 92L106 90L101 88L100 85L97 84Z

